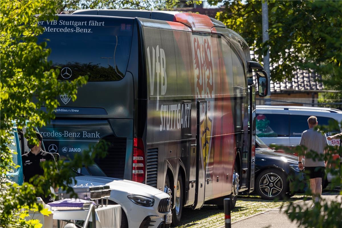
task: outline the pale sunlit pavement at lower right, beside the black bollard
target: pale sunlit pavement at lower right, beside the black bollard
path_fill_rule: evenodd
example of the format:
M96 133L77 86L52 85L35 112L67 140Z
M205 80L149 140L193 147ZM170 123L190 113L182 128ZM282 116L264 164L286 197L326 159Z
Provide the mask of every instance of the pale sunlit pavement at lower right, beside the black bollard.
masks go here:
M336 200L342 202L342 196L338 195L338 192L326 193L326 195L322 197L330 202ZM298 204L301 205L302 208L311 207L312 200L301 201ZM301 226L298 226L295 222L291 222L284 210L285 209L265 210L261 213L233 222L232 228L301 228Z

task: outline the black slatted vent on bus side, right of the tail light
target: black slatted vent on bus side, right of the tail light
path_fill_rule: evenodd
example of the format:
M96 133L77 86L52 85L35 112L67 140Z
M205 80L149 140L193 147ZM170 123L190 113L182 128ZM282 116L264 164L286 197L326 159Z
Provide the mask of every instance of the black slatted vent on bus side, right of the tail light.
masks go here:
M146 184L157 188L158 177L158 148L147 149Z

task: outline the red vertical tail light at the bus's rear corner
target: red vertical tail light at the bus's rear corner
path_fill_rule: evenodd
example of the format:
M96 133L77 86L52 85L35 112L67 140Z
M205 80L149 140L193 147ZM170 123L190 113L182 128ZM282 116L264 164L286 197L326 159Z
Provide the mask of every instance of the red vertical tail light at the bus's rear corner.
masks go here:
M145 182L145 150L141 138L133 138L132 180Z

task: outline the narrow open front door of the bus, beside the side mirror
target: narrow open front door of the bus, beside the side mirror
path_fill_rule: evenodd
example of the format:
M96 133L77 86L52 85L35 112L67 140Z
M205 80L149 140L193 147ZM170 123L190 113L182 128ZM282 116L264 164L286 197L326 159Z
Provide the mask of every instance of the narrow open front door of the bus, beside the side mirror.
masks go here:
M249 94L249 124L248 124L248 189L249 192L254 190L254 172L255 172L255 85L248 86Z

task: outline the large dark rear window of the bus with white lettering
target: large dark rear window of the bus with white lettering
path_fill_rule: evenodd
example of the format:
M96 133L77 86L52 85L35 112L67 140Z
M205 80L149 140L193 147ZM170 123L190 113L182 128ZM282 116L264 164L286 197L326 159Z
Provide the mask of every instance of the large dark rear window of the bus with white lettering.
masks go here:
M88 75L88 81L118 81L126 72L133 20L129 18L59 16L39 22L39 42L51 49L49 60L60 80Z

